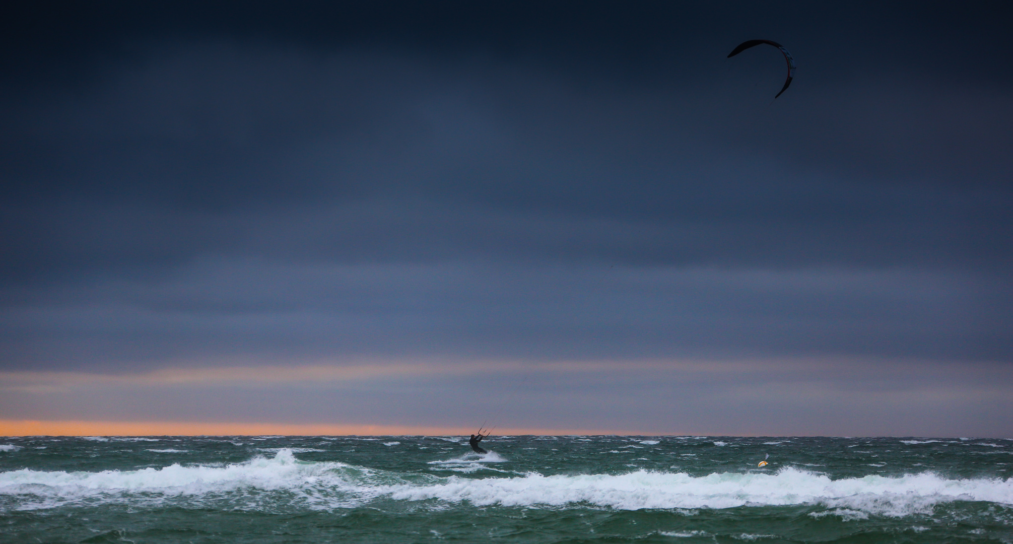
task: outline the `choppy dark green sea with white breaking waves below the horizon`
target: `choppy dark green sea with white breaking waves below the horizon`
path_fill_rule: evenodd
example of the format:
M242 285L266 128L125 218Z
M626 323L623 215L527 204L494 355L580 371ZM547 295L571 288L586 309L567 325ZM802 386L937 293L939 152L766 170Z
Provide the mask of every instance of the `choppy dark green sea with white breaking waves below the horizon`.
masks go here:
M0 438L0 542L1013 542L1013 440ZM769 464L757 464L770 455Z

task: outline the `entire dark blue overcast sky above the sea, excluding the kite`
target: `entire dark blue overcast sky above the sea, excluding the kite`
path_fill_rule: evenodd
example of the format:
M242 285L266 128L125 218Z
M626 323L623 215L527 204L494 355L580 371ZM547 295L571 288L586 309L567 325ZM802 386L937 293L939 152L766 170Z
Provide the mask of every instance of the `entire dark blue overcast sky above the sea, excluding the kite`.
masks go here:
M1013 436L1013 8L2 9L0 419Z

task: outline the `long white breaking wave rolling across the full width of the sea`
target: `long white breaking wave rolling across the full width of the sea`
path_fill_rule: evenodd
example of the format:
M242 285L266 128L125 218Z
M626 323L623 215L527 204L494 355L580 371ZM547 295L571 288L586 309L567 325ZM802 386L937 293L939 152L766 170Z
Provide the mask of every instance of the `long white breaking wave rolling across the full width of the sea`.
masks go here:
M486 460L489 462L491 459ZM476 460L436 462L471 465ZM425 470L425 469L423 469ZM432 470L432 469L430 469ZM291 449L226 466L181 466L101 472L0 472L0 512L66 504L131 506L227 501L234 507L279 510L352 508L378 500L469 502L475 506L617 510L728 509L813 504L833 513L903 517L928 514L939 503L1013 504L1010 479L947 479L931 472L897 477L831 479L797 468L773 474L686 473L639 470L626 474L528 473L485 478L390 472L340 462L304 462ZM283 507L284 504L284 507Z

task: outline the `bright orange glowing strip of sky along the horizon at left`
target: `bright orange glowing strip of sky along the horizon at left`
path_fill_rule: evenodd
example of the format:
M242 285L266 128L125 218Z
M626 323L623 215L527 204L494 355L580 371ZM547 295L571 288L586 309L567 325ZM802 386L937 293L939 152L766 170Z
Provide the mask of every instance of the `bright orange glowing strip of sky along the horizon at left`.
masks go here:
M0 437L463 436L474 431L465 428L411 425L0 419ZM501 429L496 430L496 435L634 435L634 433L587 429Z

